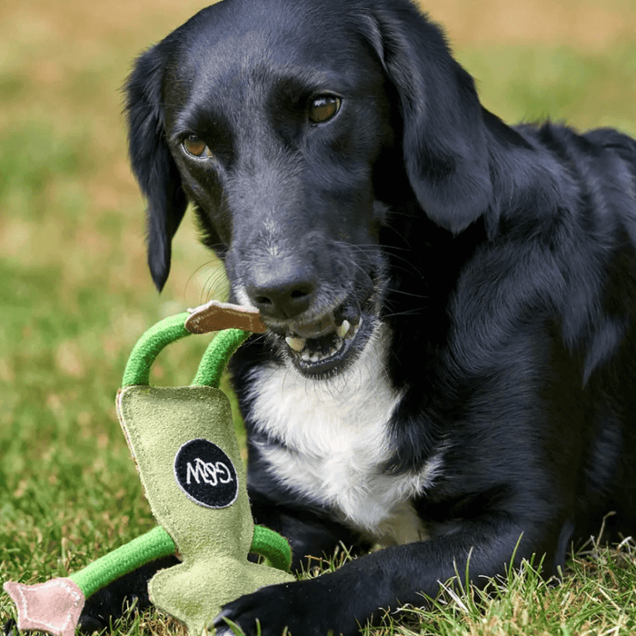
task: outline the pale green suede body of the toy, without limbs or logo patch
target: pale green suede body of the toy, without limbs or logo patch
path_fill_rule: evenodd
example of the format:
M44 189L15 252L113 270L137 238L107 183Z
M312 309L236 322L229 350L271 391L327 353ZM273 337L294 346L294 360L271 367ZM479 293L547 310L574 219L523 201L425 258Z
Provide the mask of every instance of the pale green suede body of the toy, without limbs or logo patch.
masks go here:
M225 603L263 585L293 581L287 572L247 561L254 525L230 402L223 392L209 386L129 386L118 393L117 411L154 517L183 559L150 582L155 605L200 634L212 629ZM232 505L205 508L177 484L174 458L195 438L214 442L234 463L239 489Z

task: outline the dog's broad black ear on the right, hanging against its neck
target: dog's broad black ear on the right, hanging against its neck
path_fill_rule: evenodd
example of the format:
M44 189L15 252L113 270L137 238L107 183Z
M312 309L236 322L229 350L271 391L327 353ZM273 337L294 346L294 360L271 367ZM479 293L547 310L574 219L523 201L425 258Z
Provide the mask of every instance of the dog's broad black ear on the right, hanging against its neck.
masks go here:
M492 199L482 106L437 25L400 0L363 21L399 96L407 175L423 210L459 233Z

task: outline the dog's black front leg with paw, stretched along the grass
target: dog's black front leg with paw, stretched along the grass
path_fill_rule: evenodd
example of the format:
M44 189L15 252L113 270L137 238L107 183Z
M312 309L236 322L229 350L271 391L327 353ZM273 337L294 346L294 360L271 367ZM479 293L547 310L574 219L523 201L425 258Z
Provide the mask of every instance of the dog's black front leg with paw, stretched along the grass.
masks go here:
M247 636L280 636L285 627L303 636L324 636L330 631L353 636L367 621L380 621L383 609L425 605L426 597L436 596L440 583L456 573L463 578L467 562L475 572L472 582L483 586L485 577L505 573L515 550L515 562L530 559L532 553L541 552L531 535L541 533L525 531L492 515L429 542L373 552L314 579L262 588L224 607L215 621L217 634L231 634L224 621L229 619Z

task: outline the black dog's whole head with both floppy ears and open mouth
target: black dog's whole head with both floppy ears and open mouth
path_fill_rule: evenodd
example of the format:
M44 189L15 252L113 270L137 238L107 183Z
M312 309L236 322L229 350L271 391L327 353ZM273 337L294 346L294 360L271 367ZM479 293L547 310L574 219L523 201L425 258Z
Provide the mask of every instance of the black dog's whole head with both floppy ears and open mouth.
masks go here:
M190 201L305 375L362 350L397 208L456 233L491 199L472 79L402 0L224 0L139 58L127 115L154 283Z

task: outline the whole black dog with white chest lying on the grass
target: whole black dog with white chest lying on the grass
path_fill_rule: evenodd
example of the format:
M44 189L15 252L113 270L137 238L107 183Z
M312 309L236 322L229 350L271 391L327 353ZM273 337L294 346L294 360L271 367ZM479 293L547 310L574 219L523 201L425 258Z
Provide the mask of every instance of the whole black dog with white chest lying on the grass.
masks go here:
M269 327L234 357L256 521L296 567L385 548L220 631L353 634L636 529L633 140L503 124L406 0L225 0L127 99L157 287L192 202Z

